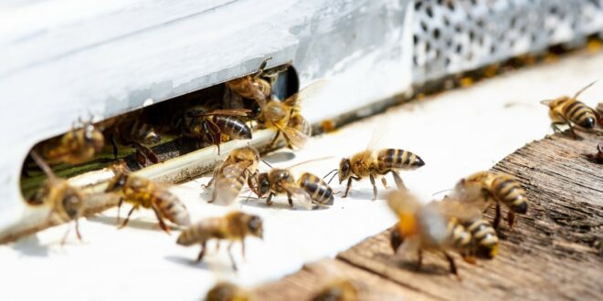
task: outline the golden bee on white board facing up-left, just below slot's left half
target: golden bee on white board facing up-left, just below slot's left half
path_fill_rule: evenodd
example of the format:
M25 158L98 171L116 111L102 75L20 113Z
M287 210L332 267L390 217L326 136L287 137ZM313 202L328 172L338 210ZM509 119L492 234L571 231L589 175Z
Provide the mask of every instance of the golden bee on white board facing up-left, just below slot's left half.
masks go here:
M122 203L125 201L133 204L125 221L119 227L120 229L128 224L134 210L141 206L153 209L159 225L167 234L170 231L165 225L164 219L179 225L187 226L190 224L190 217L185 205L172 192L169 192L164 184L134 174L126 175L125 172L117 171L117 175L109 183L106 192L116 192L118 190L121 190L122 193L122 198L120 198L117 207L118 223L120 222Z

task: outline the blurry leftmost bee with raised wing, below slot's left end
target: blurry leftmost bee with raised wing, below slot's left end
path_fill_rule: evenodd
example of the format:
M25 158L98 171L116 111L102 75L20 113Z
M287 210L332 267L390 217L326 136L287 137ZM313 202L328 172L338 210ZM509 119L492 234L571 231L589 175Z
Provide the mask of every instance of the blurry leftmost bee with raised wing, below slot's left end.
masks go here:
M76 235L81 241L78 219L84 209L84 193L79 188L69 185L67 180L58 178L52 172L48 163L37 154L36 150L31 150L30 156L48 177L48 180L33 195L30 203L48 204L50 206L48 219L57 217L61 222L73 221ZM63 236L61 244L65 243L70 229Z

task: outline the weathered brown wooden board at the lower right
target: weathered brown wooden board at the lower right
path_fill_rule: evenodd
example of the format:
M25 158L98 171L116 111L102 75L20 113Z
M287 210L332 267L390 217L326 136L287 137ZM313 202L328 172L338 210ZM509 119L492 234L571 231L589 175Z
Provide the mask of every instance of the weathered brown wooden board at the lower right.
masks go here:
M603 137L582 136L572 140L559 134L534 141L492 168L524 184L529 210L513 230L502 223L499 255L493 260L469 265L457 257L461 281L433 254L415 272L412 263L393 255L386 230L334 260L306 265L256 292L260 300L308 299L334 273L364 282L370 299L601 300L603 165L584 154L594 153ZM492 218L493 210L486 215Z

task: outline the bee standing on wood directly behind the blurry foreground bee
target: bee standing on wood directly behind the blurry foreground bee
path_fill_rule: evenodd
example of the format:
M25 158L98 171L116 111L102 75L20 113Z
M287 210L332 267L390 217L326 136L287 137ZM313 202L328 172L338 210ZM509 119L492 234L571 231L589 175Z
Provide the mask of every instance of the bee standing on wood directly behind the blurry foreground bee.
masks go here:
M527 193L522 184L513 176L491 171L476 172L460 180L452 198L460 202L475 202L484 211L496 202L496 215L492 222L494 229L498 229L501 222L501 203L509 209L509 227L513 227L515 213L525 214L528 208Z

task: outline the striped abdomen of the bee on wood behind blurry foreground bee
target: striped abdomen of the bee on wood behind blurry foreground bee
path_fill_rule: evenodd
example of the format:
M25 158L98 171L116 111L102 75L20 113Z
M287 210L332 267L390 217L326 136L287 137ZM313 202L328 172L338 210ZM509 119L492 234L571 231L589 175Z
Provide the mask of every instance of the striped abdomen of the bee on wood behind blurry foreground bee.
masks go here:
M494 199L503 202L513 213L527 212L527 195L522 184L509 175L498 175L492 182Z

